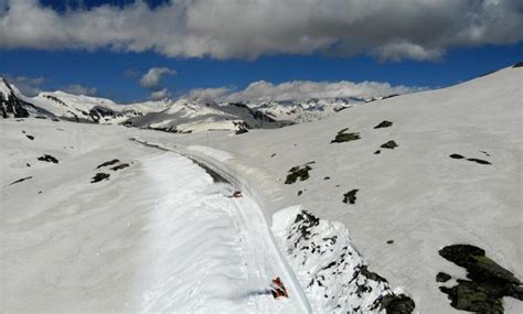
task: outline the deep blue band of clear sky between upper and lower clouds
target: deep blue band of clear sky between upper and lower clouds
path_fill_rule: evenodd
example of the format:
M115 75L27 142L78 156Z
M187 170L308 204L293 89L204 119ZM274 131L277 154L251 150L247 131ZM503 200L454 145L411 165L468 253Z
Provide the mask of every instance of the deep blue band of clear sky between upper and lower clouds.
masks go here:
M131 2L134 1L84 1L83 6L72 6L70 7L72 9L68 10L76 12L76 14L87 14L93 11L93 8L96 9L102 3L108 3L111 4L111 10L118 14L126 14L125 10ZM154 1L153 6L149 6L149 8L136 10L152 14L160 11L156 8L158 9L158 4L163 2ZM32 3L32 6L38 10L53 10L56 13L55 19L65 20L63 18L67 15L67 10L64 9L65 2L45 1L43 4L49 3L52 3L53 8L39 3ZM71 3L76 2L72 1ZM163 3L162 6L168 4ZM0 19L1 14L6 15L10 12L8 10L2 13L0 10ZM35 25L35 28L38 26ZM163 28L163 25L159 26ZM166 28L171 26L175 25L166 25ZM282 25L282 28L288 26ZM79 33L82 30L77 32ZM21 33L21 36L25 34ZM248 39L248 34L246 35ZM404 35L407 37L409 34ZM0 44L0 47L9 46L0 48L0 74L12 79L43 77L44 79L35 86L42 90L65 88L71 85L94 87L97 96L127 102L148 98L151 88L140 86L140 78L152 67L167 67L177 72L175 75L161 77L161 88L166 88L171 97L175 98L193 88L226 87L232 90L242 90L250 83L258 80L266 80L275 85L290 80L350 80L354 83L372 80L386 82L393 86L436 88L467 80L485 72L523 61L523 43L519 37L500 40L495 44L485 40L484 43L480 42L474 45L463 43L435 46L430 42L424 45L418 45L416 42L416 47L424 48L423 54L413 54L409 50L404 52L405 50L402 47L402 54L397 56L388 52L384 54L382 50L380 53L369 53L375 48L387 46L386 42L359 46L353 52L350 42L357 41L359 37L348 39L349 44L341 52L334 51L333 46L339 43L345 45L342 42L345 40L343 37L340 37L338 43L321 48L289 46L275 52L271 47L258 48L256 43L253 44L253 48L243 50L238 43L231 41L230 36L224 36L220 43L231 41L228 46L238 45L239 47L231 51L228 48L220 51L207 48L201 55L194 55L190 48L172 52L172 48L167 46L169 43L163 42L154 43L154 45L166 44L164 48L154 48L154 46L152 48L115 48L111 43L97 43L96 46L93 46L89 41L87 43L85 41L77 42L78 40L74 35L70 36L74 44L70 45L66 41L58 41L57 36L50 34L49 42L54 41L57 44L56 47L49 47L46 42L42 43L41 40L38 42L32 37L24 42L18 42L9 36L2 39L0 32L0 43L7 42L7 45ZM130 36L134 39L132 36L136 35L130 34ZM182 34L181 36L185 39L189 35ZM264 36L271 36L271 33L262 34L260 41L265 40ZM413 37L416 36L418 35L413 34ZM41 39L41 36L39 37ZM82 36L82 39L84 37ZM279 39L270 37L270 40ZM425 51L437 53L434 56L433 53L425 53ZM157 89L159 88L160 85Z

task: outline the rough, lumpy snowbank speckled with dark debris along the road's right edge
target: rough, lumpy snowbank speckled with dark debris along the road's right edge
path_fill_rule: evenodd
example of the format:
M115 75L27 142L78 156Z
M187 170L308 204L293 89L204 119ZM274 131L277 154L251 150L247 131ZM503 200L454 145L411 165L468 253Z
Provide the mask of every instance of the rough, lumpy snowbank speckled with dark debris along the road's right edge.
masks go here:
M369 271L341 223L319 219L298 207L276 213L273 232L280 240L316 313L378 313L393 294Z

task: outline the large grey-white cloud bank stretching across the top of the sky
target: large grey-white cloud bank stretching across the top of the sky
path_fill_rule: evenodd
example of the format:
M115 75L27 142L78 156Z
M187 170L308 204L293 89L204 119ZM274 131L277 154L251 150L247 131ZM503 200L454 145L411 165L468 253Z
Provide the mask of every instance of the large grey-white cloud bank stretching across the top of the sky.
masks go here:
M1 1L1 48L110 47L216 58L364 53L420 61L451 47L523 40L521 0L171 0L61 13L38 0Z

